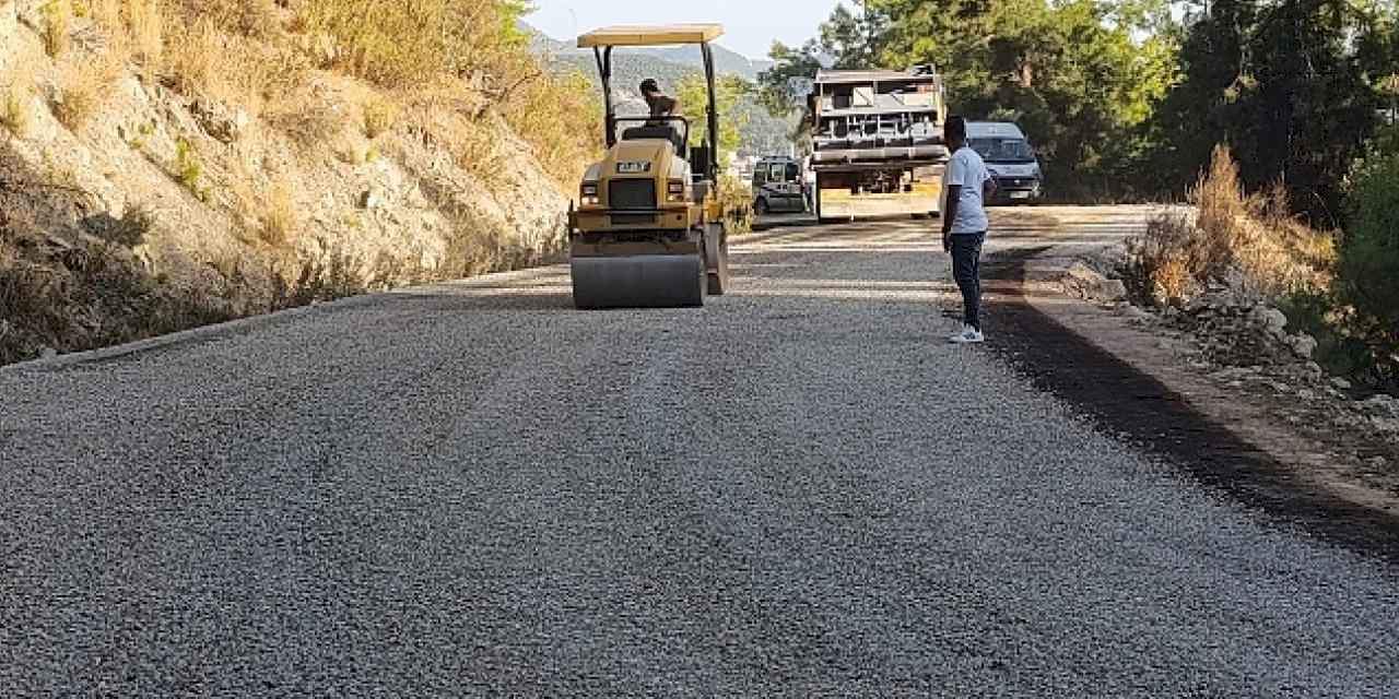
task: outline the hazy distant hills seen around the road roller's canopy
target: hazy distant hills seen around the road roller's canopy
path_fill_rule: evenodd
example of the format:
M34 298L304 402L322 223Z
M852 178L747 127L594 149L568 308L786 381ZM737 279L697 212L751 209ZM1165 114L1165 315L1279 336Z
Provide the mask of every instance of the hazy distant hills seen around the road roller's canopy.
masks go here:
M597 63L593 52L578 49L572 42L558 41L526 27L530 45L544 57L546 64L561 73L582 73L595 89L600 89ZM722 46L713 50L715 70L720 75L739 75L753 81L769 62L750 60ZM646 110L641 92L637 89L645 78L655 78L662 89L674 94L686 75L700 74L704 59L694 46L665 46L628 49L613 53L613 96L620 115L642 115ZM778 119L768 113L757 99L746 96L739 101L733 117L743 119L740 148L754 154L785 154L789 136L795 130L793 119Z

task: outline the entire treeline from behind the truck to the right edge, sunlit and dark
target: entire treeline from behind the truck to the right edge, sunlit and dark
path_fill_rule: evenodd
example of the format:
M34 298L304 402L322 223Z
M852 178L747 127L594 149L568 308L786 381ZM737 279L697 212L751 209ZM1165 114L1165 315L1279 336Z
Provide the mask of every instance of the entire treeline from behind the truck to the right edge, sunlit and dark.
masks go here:
M1308 305L1399 383L1395 0L856 6L774 46L769 108L800 109L792 78L820 66L933 63L956 112L1021 124L1051 196L1070 201L1181 200L1224 145L1245 192L1336 231L1335 284L1307 289Z

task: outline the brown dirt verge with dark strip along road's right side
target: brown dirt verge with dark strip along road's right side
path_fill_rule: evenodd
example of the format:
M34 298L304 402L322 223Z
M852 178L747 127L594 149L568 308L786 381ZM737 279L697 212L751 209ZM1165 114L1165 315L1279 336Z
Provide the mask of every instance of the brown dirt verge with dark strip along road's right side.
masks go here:
M1009 247L985 261L992 347L1037 386L1210 488L1399 562L1399 473L1361 461L1386 445L1357 443L1356 433L1308 417L1295 397L1221 384L1186 359L1186 338L1046 284L1079 253L1119 239L1121 222L1066 222L1035 210L997 219Z

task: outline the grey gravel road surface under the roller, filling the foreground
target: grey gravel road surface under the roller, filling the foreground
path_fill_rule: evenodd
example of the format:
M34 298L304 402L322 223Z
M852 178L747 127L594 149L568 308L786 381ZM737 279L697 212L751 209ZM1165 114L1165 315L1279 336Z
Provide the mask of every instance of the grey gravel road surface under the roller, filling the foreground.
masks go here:
M1395 696L1395 570L946 345L930 225L0 370L0 695Z

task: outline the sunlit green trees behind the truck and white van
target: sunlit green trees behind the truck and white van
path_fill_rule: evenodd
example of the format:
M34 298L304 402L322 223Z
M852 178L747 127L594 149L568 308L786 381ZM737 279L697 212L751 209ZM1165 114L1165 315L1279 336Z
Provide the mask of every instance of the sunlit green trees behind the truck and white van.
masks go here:
M1147 150L1143 124L1177 80L1177 42L1161 0L867 0L838 8L799 49L775 45L764 103L804 109L793 78L823 64L905 69L930 63L956 113L1014 120L1046 171L1116 178ZM802 129L806 129L803 122Z

